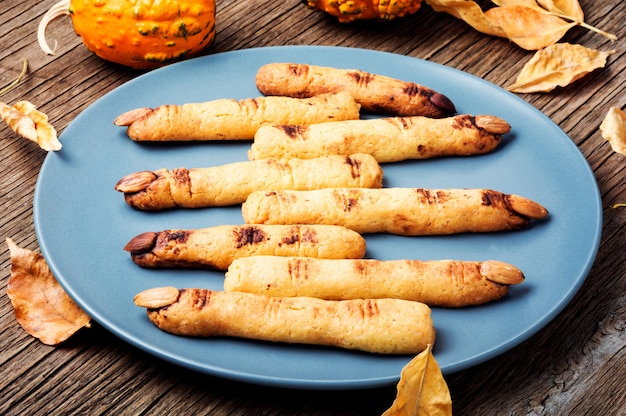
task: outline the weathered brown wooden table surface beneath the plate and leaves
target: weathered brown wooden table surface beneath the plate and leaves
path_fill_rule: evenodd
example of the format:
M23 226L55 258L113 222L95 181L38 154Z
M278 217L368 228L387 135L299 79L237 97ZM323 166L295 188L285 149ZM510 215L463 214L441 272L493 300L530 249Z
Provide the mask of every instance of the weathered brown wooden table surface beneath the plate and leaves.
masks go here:
M26 78L0 97L25 99L47 113L59 131L96 99L140 75L92 55L69 18L55 21L42 53L36 30L54 0L2 0L0 84ZM521 345L472 368L446 376L458 415L617 415L626 410L626 158L612 151L599 125L609 107L624 109L626 2L582 0L586 21L620 40L610 42L582 28L563 41L616 53L606 68L550 93L521 94L559 125L587 158L603 207L603 235L596 262L565 309ZM426 59L509 85L531 53L504 39L482 35L429 6L388 24L337 23L299 0L217 1L217 41L207 54L274 45L337 45ZM45 152L0 126L1 232L38 252L33 194ZM563 244L575 242L563 241ZM198 374L135 349L94 324L65 344L50 347L17 324L6 295L11 264L0 250L0 413L377 415L395 397L395 386L355 391L301 391L249 385Z

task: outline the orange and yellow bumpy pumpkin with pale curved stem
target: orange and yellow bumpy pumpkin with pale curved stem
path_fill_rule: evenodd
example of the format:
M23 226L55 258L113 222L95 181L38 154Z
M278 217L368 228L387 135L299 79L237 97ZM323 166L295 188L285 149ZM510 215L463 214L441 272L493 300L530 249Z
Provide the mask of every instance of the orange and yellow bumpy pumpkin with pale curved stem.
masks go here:
M41 49L47 25L69 15L87 48L102 59L151 69L197 55L215 40L215 0L61 0L37 32Z

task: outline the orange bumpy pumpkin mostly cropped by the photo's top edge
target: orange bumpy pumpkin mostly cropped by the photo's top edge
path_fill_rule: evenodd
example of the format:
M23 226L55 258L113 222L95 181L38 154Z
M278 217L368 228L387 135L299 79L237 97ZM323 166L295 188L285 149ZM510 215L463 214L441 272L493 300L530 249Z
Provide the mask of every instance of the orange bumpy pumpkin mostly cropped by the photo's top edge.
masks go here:
M391 20L417 12L421 0L302 0L312 9L335 16L341 23L355 20Z

